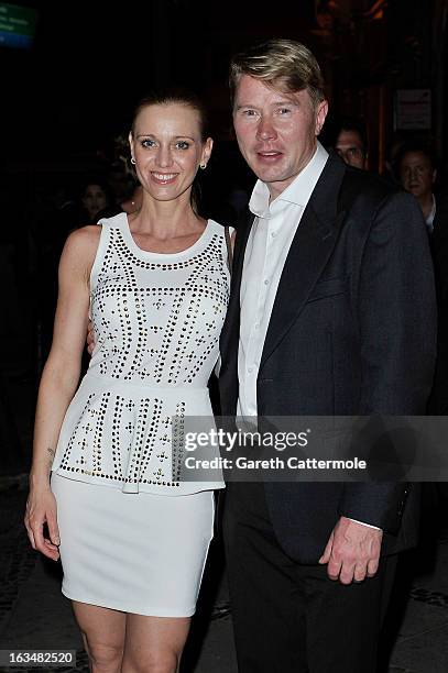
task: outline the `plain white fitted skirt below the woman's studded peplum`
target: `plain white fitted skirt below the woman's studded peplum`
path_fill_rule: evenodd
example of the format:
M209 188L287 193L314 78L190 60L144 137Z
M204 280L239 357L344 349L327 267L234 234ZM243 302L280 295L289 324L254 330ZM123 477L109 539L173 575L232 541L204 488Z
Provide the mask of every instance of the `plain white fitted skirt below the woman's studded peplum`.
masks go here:
M195 611L212 538L210 490L166 497L52 475L63 594L136 615Z

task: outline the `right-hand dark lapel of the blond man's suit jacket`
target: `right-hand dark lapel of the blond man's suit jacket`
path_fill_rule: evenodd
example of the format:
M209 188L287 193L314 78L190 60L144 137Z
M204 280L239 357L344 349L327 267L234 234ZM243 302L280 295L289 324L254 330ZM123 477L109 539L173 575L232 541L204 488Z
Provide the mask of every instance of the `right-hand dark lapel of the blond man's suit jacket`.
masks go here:
M337 212L345 166L330 155L302 216L278 283L260 369L303 309L338 240L346 211Z

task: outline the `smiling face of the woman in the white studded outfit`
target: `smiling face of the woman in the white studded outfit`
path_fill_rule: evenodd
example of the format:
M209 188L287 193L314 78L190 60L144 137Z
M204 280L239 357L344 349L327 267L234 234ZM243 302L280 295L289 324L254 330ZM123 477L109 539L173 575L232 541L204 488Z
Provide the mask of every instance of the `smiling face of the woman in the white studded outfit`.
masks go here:
M199 113L188 104L144 108L129 137L135 170L145 192L157 201L189 200L200 164L207 164L212 140L203 141Z

